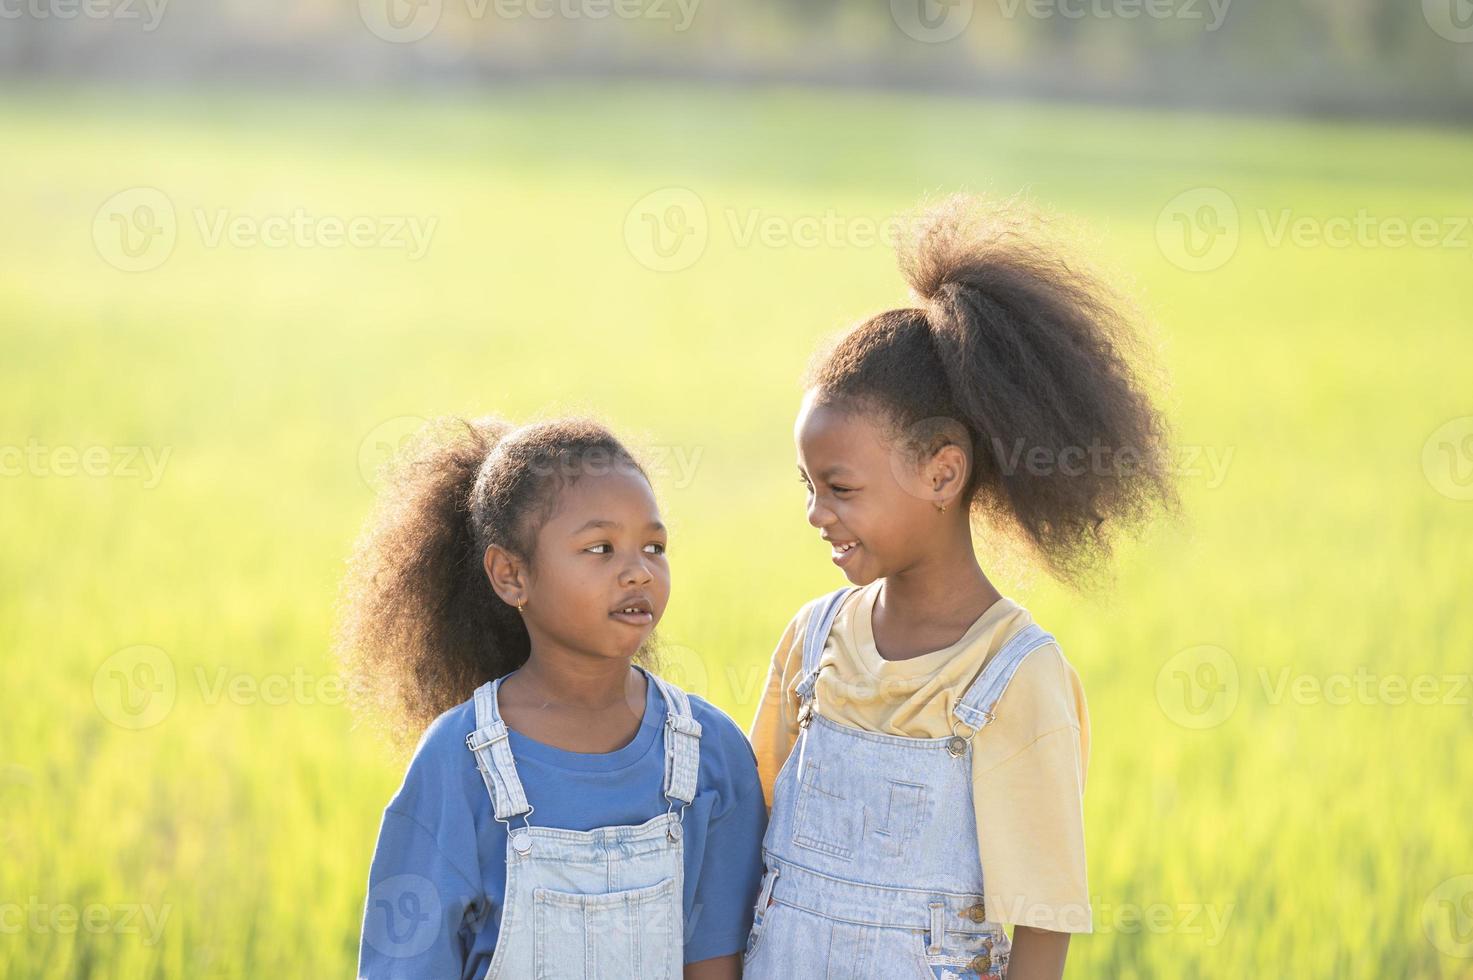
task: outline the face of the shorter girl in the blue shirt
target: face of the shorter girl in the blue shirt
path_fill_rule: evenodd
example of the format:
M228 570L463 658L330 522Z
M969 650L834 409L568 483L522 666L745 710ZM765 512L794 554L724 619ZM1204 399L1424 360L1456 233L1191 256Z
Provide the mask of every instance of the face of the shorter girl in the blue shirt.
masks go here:
M654 492L633 467L564 483L527 569L523 616L533 647L633 657L670 598L664 548Z

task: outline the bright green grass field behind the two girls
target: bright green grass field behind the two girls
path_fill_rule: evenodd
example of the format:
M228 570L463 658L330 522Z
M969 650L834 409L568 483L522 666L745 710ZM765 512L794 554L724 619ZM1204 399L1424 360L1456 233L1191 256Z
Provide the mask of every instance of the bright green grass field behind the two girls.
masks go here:
M1068 976L1473 977L1473 137L610 87L12 90L0 133L0 976L352 970L402 759L331 604L407 417L650 447L672 676L745 727L841 581L801 365L903 302L875 223L971 189L1089 227L1184 447L1184 522L1112 589L993 569L1089 693Z

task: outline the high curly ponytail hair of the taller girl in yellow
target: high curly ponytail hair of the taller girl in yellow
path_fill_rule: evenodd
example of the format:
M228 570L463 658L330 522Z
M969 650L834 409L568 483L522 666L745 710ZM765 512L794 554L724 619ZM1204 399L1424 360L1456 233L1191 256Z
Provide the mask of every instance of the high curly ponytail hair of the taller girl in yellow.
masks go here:
M922 212L900 251L919 305L820 351L807 388L878 416L918 458L938 433L969 442L971 514L1078 587L1117 531L1177 498L1128 305L1046 224L1018 202L968 196Z

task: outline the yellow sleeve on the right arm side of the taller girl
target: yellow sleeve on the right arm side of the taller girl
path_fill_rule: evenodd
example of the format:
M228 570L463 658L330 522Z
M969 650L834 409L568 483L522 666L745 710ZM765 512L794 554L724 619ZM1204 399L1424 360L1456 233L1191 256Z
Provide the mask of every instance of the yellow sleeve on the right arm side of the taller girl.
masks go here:
M1093 931L1084 861L1089 744L1078 675L1058 645L1034 650L974 743L972 800L990 920Z

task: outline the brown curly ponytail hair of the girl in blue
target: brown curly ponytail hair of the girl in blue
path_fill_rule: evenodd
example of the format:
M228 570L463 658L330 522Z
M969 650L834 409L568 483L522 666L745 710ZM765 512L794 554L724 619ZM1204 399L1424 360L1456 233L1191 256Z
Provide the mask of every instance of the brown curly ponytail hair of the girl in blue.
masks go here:
M558 489L611 466L648 480L589 419L518 429L446 417L420 429L387 466L343 579L336 647L355 707L404 744L526 663L527 628L491 588L482 557L496 544L530 561Z

